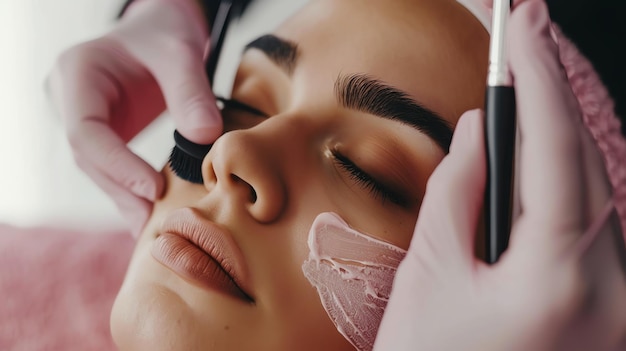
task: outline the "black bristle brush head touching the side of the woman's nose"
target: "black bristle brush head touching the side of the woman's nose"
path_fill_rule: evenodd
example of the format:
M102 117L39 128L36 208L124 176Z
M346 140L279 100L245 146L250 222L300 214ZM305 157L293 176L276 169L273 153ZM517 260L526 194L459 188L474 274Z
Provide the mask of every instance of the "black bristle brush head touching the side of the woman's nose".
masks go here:
M193 143L185 139L176 130L174 131L174 141L176 141L176 145L170 153L170 168L178 177L195 184L202 184L202 161L211 150L212 145Z

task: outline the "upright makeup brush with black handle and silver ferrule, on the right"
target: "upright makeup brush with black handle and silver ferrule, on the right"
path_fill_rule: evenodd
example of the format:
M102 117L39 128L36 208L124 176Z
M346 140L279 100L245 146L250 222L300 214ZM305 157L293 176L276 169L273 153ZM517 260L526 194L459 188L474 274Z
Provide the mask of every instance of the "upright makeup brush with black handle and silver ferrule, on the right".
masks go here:
M487 187L485 226L487 263L495 263L509 244L515 157L515 91L506 62L506 28L510 0L493 1L493 30L485 102Z

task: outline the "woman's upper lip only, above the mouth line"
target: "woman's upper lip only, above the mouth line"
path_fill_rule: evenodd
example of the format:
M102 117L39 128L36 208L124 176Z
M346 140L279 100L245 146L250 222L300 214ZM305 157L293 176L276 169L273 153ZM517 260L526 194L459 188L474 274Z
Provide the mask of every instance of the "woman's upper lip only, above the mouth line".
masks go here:
M241 249L230 233L193 208L181 208L163 222L164 233L178 235L206 252L251 300L248 270Z

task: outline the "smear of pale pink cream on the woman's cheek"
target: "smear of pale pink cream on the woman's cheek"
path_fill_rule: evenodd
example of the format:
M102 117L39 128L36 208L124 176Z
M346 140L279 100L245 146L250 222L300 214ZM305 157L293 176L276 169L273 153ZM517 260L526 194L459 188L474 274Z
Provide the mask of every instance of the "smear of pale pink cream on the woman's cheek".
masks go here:
M324 309L357 350L371 350L406 250L350 228L331 212L315 218L308 245L302 270Z

